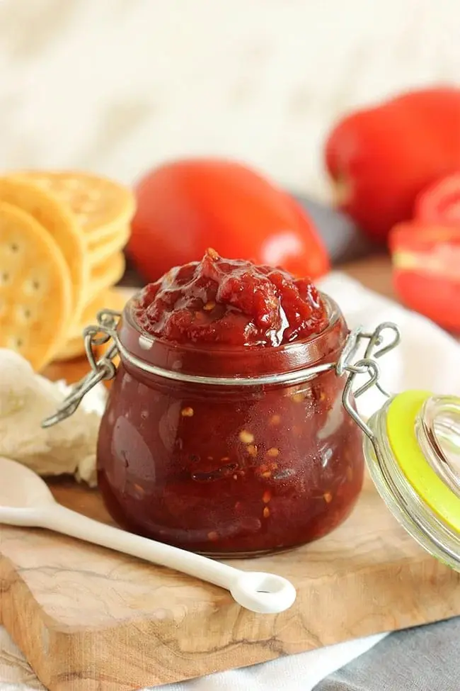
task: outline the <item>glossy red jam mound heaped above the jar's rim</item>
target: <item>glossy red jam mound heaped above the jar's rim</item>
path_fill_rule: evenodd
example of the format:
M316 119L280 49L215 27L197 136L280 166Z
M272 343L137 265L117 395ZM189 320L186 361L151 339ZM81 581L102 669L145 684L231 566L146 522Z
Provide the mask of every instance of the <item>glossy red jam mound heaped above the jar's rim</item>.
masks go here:
M177 343L277 347L320 333L328 324L309 279L207 249L200 262L177 266L150 283L134 305L147 334Z

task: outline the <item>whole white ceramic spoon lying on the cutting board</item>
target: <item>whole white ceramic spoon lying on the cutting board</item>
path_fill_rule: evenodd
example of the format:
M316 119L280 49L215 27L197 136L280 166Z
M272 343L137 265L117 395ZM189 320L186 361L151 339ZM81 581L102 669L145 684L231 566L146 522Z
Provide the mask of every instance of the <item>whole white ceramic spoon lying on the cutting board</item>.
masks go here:
M241 569L113 528L58 504L30 468L0 456L0 523L47 528L115 549L226 588L242 607L260 614L289 609L296 591L272 573Z

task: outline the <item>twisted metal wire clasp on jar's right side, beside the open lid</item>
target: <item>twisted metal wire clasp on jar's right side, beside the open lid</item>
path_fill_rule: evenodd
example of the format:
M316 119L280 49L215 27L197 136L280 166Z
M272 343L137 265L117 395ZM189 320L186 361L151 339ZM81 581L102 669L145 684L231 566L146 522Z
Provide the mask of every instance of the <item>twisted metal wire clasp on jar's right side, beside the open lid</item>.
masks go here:
M365 341L367 341L367 347L364 357L354 361L360 345ZM401 332L393 322L382 322L372 333L365 332L362 330L362 327L358 327L348 335L343 351L335 364L338 376L348 373L342 395L343 407L364 434L369 437L372 444L376 443L374 432L362 420L362 417L360 417L354 405L352 405L352 400L353 398L359 398L360 395L368 391L372 386L376 386L386 398L391 398L391 393L386 391L379 381L380 368L377 360L389 353L393 348L396 348L400 341ZM363 374L367 375L367 381L357 388L356 391L353 391L353 383L356 376Z

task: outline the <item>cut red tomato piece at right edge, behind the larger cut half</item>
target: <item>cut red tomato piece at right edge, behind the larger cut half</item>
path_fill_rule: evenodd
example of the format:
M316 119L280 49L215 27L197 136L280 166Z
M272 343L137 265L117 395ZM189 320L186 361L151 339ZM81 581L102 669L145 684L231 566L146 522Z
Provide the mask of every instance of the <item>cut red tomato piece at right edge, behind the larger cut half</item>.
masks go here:
M460 172L422 190L415 199L414 217L421 223L460 227Z

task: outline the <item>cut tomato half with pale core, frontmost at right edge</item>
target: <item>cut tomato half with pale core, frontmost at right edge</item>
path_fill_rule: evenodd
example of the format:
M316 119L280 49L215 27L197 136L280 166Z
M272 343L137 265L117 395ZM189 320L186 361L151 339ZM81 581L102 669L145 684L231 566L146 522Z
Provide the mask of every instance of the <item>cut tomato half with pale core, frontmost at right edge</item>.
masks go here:
M460 333L460 227L401 223L391 230L389 246L401 302Z

